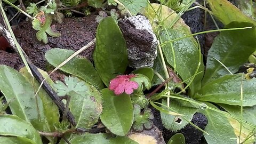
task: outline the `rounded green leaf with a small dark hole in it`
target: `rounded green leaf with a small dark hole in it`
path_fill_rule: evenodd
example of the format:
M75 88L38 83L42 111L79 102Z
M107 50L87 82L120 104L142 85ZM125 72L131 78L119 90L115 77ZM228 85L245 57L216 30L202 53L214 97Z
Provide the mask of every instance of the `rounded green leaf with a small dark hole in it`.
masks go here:
M162 104L167 106L167 101L163 100ZM162 106L162 108L166 109L164 106ZM170 101L170 110L184 116L174 116L160 111L162 123L166 129L171 131L178 131L189 123L186 121L186 119L191 121L197 109L194 107L181 106L180 102L172 100Z

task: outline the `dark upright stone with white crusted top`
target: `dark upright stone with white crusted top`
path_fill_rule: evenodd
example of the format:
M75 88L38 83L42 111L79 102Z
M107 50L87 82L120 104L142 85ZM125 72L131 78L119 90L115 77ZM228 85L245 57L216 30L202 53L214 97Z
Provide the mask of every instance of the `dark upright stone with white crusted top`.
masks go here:
M137 15L119 20L128 50L129 66L135 69L153 67L157 39L147 17Z

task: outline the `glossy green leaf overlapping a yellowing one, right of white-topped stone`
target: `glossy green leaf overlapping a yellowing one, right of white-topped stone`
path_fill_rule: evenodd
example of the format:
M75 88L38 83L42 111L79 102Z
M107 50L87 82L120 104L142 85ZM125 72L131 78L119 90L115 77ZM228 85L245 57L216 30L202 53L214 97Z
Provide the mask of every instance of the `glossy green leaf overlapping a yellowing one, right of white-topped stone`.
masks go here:
M170 29L169 33L166 33L165 31L162 32L161 42L170 41L171 39L183 36L185 35L183 35L181 31ZM202 59L201 61L198 61L198 58L202 57L202 55L198 53L198 48L194 43L193 37L183 38L179 41L175 41L172 45L173 52L170 43L162 46L163 52L169 65L176 67L175 70L183 81L186 81L195 75L198 63L200 64L200 67L197 73L203 71L203 61ZM203 73L198 74L194 77L194 79L190 78L185 82L188 84L193 80L193 82L189 85L191 94L194 94L201 88L202 77Z

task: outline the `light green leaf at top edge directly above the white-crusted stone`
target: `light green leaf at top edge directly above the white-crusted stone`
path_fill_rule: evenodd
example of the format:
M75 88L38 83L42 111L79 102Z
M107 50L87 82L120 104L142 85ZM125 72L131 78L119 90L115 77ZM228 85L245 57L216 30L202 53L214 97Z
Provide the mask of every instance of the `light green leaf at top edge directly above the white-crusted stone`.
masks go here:
M148 5L145 0L119 0L132 15L137 15L144 7Z

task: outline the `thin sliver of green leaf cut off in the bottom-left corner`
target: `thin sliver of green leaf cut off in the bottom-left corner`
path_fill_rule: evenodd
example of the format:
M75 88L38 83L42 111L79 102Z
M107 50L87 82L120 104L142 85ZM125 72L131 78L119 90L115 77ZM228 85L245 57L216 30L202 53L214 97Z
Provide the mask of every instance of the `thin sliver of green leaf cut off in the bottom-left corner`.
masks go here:
M27 139L25 137L17 137L17 136L0 136L0 143L1 144L36 144L33 140Z

